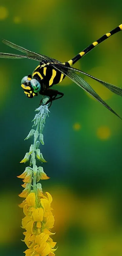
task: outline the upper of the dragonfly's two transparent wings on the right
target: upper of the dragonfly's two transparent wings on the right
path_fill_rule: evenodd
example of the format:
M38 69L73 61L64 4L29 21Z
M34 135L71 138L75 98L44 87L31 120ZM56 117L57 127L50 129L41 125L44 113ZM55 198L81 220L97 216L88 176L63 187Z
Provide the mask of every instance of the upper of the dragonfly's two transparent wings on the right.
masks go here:
M67 68L68 68L68 69L71 69L71 70L74 70L74 71L77 71L77 72L80 72L80 73L82 73L82 74L84 74L84 75L86 75L86 76L88 76L88 77L90 77L90 78L96 80L97 82L101 83L101 84L104 85L106 88L108 88L111 92L114 92L114 93L116 93L116 94L122 96L122 88L117 87L117 86L115 86L115 85L111 85L111 84L109 84L109 83L107 83L107 82L104 82L104 81L102 81L102 80L100 80L100 79L98 79L98 78L96 78L96 77L93 77L93 76L91 76L90 74L87 74L87 73L85 73L84 71L81 71L81 70L79 70L79 69L77 69L77 68L73 68L73 67L67 67Z

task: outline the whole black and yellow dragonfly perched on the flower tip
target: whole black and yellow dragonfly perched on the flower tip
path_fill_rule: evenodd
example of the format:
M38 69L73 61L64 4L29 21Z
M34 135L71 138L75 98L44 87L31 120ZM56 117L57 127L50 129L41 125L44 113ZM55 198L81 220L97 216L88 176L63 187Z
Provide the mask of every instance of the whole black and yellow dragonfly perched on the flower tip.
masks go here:
M28 58L34 59L39 61L39 65L35 68L32 75L28 74L21 80L21 87L24 90L25 95L28 98L33 98L34 96L40 95L48 96L48 103L52 103L52 101L59 99L64 96L64 93L59 92L58 90L51 89L51 87L55 84L60 83L66 76L70 78L75 84L79 85L82 89L84 89L87 93L93 96L98 102L100 102L103 106L105 106L108 110L110 110L113 114L118 116L120 119L121 117L109 106L107 103L104 102L103 99L94 91L94 89L77 73L84 74L95 81L98 81L110 91L114 92L122 96L122 88L117 87L115 85L109 84L105 81L102 81L86 72L76 69L73 66L79 59L81 59L84 55L90 52L94 47L98 44L109 38L110 36L116 34L117 32L122 30L122 24L118 27L114 28L110 32L104 34L101 38L94 41L91 45L85 48L82 52L79 52L74 58L70 59L69 61L62 63L57 59L53 59L51 57L31 52L19 45L16 45L10 41L5 39L2 42L18 51L25 53L26 55L20 54L11 54L11 53L0 53L0 58L9 58L9 59L21 59L21 58ZM42 98L43 99L43 98ZM41 103L42 103L41 99ZM41 104L40 103L40 104Z

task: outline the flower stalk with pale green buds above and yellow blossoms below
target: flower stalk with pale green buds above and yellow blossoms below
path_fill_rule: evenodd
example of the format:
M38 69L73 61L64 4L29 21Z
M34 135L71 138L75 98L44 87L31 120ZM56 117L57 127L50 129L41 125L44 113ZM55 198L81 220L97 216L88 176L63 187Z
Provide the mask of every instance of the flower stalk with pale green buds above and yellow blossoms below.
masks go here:
M43 99L43 104L46 104L48 98ZM34 137L34 142L31 144L29 152L25 154L25 157L20 163L26 163L30 160L30 164L25 168L25 171L17 176L22 178L24 184L21 186L24 190L19 194L19 197L25 198L25 200L19 204L19 207L23 208L25 217L22 219L22 228L26 231L23 232L25 239L23 240L28 249L24 252L25 256L54 256L54 246L50 236L51 229L54 225L54 216L52 214L51 195L46 192L45 195L42 192L41 183L42 179L49 179L46 173L43 171L42 166L37 166L36 162L39 160L41 163L47 162L42 153L40 152L40 142L44 145L42 131L45 127L45 119L49 117L48 104L40 106L35 111L38 114L35 115L32 120L33 126L28 136L29 139Z

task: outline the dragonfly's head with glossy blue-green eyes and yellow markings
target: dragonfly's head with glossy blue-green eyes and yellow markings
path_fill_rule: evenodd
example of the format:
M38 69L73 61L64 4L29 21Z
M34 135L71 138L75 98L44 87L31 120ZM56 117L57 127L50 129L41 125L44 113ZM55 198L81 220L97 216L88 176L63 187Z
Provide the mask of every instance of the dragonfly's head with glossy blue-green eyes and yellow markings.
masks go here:
M21 87L28 98L38 96L41 90L41 85L36 79L32 79L31 75L25 76L21 80Z

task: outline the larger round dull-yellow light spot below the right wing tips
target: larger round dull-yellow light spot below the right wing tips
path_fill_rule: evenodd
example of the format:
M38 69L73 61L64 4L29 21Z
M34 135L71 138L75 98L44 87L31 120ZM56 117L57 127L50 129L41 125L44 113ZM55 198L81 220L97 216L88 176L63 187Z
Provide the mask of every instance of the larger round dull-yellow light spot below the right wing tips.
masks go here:
M107 126L101 126L97 129L97 137L101 140L106 140L110 138L111 131Z

